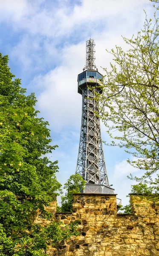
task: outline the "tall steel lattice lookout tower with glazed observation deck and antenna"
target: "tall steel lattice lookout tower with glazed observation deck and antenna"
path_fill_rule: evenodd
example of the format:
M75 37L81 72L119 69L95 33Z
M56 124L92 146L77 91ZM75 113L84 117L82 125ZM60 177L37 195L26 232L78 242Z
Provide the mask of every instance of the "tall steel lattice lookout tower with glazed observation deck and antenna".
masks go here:
M100 119L95 115L98 113L95 91L102 93L99 87L102 75L95 66L94 47L94 40L87 40L86 66L78 75L78 93L82 95L82 120L76 173L86 180L84 193L113 194L114 189L109 185L105 166Z

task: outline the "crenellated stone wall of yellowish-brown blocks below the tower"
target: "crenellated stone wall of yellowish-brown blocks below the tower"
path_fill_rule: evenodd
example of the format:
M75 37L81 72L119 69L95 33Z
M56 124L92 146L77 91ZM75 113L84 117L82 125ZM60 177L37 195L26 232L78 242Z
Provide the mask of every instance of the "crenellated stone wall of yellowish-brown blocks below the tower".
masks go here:
M139 195L130 195L130 203L133 214L117 214L114 194L75 194L73 212L55 213L55 220L79 219L79 235L50 247L48 255L159 256L159 205Z

